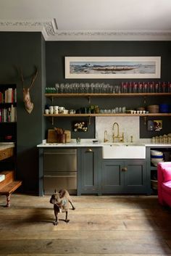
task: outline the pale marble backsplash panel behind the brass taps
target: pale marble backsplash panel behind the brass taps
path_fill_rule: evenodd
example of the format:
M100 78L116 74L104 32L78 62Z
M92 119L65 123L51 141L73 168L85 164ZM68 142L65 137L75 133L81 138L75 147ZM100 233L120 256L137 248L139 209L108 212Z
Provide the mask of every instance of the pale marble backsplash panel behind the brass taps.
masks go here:
M124 133L125 142L130 142L130 136L133 136L133 142L151 141L151 139L140 139L139 117L96 117L96 139L104 141L104 131L107 131L107 139L112 142L112 133L117 133L117 126L114 126L114 131L112 130L115 122L119 125L120 135Z

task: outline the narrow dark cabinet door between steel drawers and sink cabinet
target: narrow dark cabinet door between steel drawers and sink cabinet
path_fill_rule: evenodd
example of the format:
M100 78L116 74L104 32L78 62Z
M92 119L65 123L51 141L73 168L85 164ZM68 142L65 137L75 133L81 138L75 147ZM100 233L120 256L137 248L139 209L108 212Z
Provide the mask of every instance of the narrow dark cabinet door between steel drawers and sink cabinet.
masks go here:
M81 194L101 194L101 148L80 149Z

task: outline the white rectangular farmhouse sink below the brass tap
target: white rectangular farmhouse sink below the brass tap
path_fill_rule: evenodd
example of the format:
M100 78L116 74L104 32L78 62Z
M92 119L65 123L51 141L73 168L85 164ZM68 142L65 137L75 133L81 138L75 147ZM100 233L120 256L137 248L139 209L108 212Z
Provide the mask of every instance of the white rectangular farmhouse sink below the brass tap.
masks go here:
M136 143L105 143L102 148L104 159L145 159L146 146Z

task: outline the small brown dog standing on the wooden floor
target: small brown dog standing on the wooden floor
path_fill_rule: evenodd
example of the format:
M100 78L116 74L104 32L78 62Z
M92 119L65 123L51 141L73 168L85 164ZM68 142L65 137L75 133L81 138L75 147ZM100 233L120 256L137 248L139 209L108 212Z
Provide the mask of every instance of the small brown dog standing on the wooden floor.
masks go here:
M75 210L74 205L72 204L72 199L70 198L70 194L66 189L61 189L58 193L52 194L50 203L54 205L54 225L58 225L58 213L65 212L65 222L68 223L70 220L67 218L69 205L72 206L72 210Z

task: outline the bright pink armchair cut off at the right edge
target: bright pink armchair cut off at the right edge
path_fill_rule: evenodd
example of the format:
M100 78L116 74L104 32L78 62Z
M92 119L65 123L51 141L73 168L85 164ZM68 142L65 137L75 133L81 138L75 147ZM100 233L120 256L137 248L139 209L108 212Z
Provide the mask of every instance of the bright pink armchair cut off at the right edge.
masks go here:
M157 180L159 203L171 207L171 162L158 163Z

